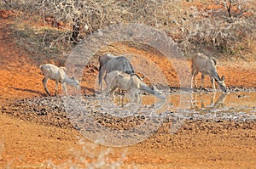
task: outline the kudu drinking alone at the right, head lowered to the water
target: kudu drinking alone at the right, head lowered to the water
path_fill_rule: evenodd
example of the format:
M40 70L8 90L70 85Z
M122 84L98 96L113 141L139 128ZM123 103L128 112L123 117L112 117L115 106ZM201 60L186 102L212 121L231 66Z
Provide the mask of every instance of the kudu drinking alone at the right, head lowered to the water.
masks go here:
M200 90L202 88L202 83L204 81L205 75L211 77L213 92L216 91L214 81L218 83L218 87L223 91L227 92L227 87L224 83L225 77L221 78L218 76L216 69L216 60L213 58L208 58L205 54L195 54L192 56L192 73L191 73L191 89L193 88L193 78L195 77L195 87L196 87L196 76L201 72L201 84Z

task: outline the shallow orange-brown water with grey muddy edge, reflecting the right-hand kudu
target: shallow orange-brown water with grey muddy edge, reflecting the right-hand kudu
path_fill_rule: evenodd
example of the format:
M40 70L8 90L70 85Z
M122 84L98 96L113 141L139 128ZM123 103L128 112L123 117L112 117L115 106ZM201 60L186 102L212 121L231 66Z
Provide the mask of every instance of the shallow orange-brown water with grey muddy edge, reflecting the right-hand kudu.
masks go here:
M166 98L163 101L152 95L143 95L142 105L158 106L154 110L157 113L172 112L196 119L256 120L256 93L184 92Z

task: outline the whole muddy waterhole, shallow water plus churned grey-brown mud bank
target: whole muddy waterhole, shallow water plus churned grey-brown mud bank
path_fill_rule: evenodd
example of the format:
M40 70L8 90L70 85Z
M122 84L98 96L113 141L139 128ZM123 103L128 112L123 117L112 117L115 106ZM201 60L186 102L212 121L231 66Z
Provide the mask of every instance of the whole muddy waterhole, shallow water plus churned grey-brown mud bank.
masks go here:
M185 121L256 121L255 92L179 92L166 100L142 95L141 104L119 98L41 97L16 101L2 111L46 126L75 128L91 141L114 147L137 144L164 123L169 124L169 133L175 133Z

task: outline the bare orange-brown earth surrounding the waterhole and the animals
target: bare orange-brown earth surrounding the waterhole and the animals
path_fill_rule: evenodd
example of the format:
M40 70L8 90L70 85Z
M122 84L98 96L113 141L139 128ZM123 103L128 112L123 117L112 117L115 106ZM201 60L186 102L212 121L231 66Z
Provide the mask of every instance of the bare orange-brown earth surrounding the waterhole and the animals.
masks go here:
M183 127L173 134L168 132L172 123L167 121L150 138L131 146L113 148L83 138L68 122L67 126L63 125L64 122L55 125L67 121L65 117L55 119L53 123L40 120L44 115L28 118L29 115L26 116L21 109L22 105L15 105L19 100L46 97L41 82L43 75L38 68L42 63L30 58L25 49L15 44L15 34L5 27L10 22L11 16L0 16L2 168L83 168L90 165L95 168L256 167L255 121L185 121ZM179 87L172 65L162 55L127 44L115 45L118 48L114 51L116 53L127 52L152 60L162 69L170 86ZM108 52L112 52L111 47ZM230 88L256 87L255 56L232 60L218 58L218 72L226 76L226 85ZM95 66L85 68L82 93L94 91L97 73ZM157 80L153 77L152 82ZM205 87L211 87L209 78L205 82ZM55 82L49 84L50 91L53 91Z

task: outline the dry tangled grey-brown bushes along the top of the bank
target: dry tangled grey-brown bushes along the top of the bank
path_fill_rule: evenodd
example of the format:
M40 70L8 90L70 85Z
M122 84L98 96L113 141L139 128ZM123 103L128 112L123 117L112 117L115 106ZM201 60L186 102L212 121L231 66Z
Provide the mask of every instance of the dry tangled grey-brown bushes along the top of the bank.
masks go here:
M137 23L165 31L185 53L217 48L238 54L255 41L253 0L5 0L2 5L27 14L41 14L45 22L65 28L50 40L50 48L78 42L104 26ZM45 36L44 36L45 38ZM50 38L48 38L50 39ZM46 43L45 43L46 44Z

